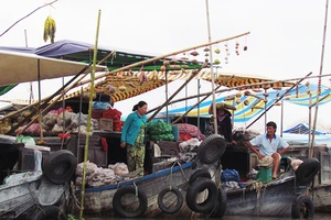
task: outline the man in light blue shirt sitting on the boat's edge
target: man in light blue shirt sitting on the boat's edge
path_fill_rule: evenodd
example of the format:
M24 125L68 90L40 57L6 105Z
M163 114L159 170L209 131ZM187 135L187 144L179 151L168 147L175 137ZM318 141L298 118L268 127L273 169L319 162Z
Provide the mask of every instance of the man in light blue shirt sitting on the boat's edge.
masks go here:
M276 179L278 177L281 155L289 150L289 145L279 135L276 135L277 125L274 121L269 121L266 127L266 134L260 134L245 143L256 153L259 164L265 166L273 164L273 178Z

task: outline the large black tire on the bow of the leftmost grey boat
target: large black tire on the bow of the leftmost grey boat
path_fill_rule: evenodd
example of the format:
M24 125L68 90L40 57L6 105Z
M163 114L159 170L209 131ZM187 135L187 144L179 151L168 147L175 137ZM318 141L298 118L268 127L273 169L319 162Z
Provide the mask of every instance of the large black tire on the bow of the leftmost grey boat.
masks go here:
M43 162L43 173L53 184L64 184L73 177L77 158L67 150L51 153Z

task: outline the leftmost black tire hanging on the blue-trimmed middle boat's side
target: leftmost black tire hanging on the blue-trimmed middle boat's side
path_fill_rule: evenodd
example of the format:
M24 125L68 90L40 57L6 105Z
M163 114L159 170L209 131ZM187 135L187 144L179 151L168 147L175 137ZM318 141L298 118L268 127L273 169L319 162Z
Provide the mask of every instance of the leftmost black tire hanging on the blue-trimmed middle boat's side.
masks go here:
M113 197L113 208L115 213L124 218L136 218L141 217L147 210L147 196L143 191L138 189L138 199L139 199L139 207L134 211L125 210L125 207L121 204L121 198L126 194L136 195L136 187L135 186L125 186L119 188L114 197Z

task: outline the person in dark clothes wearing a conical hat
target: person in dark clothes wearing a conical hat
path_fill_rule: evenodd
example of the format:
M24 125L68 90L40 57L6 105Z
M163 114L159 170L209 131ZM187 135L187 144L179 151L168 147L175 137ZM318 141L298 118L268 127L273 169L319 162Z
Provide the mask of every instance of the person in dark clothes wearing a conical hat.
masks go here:
M216 103L217 133L223 135L226 142L236 144L236 141L234 141L232 138L232 113L229 112L229 110L236 110L236 108L224 102ZM210 106L209 113L213 114L213 103ZM206 135L211 135L214 133L213 117L207 124Z

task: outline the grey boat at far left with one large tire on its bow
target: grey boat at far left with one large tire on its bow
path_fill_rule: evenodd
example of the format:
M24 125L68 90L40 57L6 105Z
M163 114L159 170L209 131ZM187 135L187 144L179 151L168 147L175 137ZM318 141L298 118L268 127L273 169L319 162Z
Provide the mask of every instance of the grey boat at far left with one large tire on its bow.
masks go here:
M0 145L1 155L7 155L4 144ZM21 146L17 144L11 151ZM63 209L77 161L71 152L58 151L47 157L41 170L41 158L40 153L38 169L9 175L0 185L0 219L66 219Z

